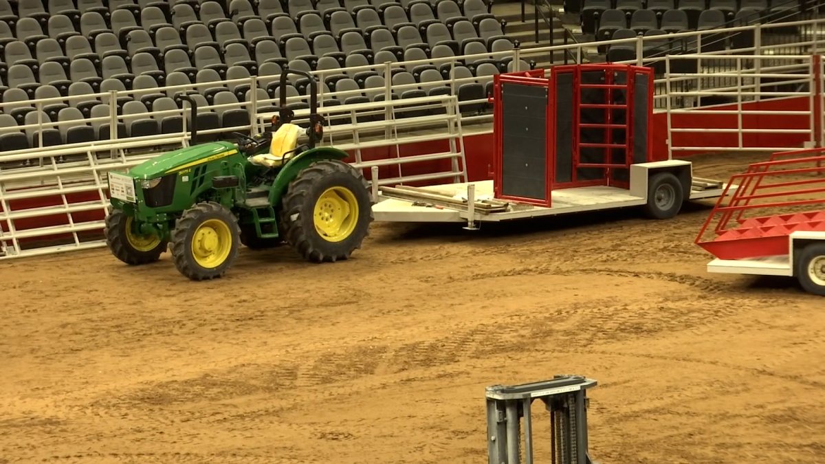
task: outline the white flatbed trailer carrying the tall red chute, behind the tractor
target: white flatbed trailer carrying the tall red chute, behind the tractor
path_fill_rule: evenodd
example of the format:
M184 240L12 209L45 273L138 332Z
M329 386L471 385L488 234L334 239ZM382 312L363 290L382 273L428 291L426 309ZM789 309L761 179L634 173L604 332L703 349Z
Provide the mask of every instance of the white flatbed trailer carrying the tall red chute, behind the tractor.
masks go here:
M683 169L690 173L690 193L682 201L719 197L727 184L722 181L692 177L691 162L667 160L630 166L630 187L572 187L553 190L551 206L535 206L519 201L502 201L493 197L493 180L458 182L428 187L379 187L373 184L377 203L373 206L376 221L383 222L456 222L477 229L479 222L520 220L549 215L612 210L629 206L646 206L657 201L657 192L648 186L656 173ZM373 175L377 175L373 171ZM374 177L375 178L375 177ZM733 192L738 186L731 186ZM665 199L667 201L667 199Z

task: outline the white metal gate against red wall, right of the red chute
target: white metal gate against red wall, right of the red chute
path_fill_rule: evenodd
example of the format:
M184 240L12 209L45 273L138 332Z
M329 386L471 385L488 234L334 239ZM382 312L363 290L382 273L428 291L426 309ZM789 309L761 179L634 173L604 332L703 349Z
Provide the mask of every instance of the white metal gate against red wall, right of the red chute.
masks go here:
M733 71L715 73L714 76L729 78L728 85L721 88L703 89L701 80L706 78L705 73L678 73L672 71L672 66L682 59L725 59L733 60L735 67ZM771 59L780 59L794 64L783 64L780 66L762 66L761 63ZM821 125L823 94L823 73L822 57L820 55L796 56L796 55L726 55L707 56L699 54L686 54L668 56L666 61L665 83L667 88L666 110L667 110L667 146L669 154L674 151L733 151L733 150L756 150L756 151L779 151L783 149L799 148L799 145L789 146L760 146L760 144L748 144L746 136L752 134L799 134L805 135L805 143L811 146L823 146L823 126ZM750 67L747 67L750 66ZM785 72L782 72L785 71ZM764 80L763 80L764 79ZM767 81L767 79L770 79ZM672 90L673 83L692 83L691 88L695 90ZM763 90L763 88L780 88L790 86L794 89ZM733 109L723 109L721 107L694 107L676 108L672 107L672 101L680 97L729 97L733 102L725 105L734 106ZM758 100L796 98L804 101L803 109L748 109L743 107L743 103L756 102ZM728 127L714 127L709 121L710 118L701 119L704 124L677 125L673 116L675 115L714 115L735 116L736 125ZM784 127L770 128L757 125L752 122L746 123L745 119L750 116L776 116L775 121L785 123ZM804 116L804 124L799 124L800 117ZM733 119L733 118L732 118ZM820 121L817 121L820 120ZM718 121L718 120L713 120ZM713 133L736 135L735 143L719 144L714 146L679 145L674 141L674 134L690 133ZM733 141L733 138L730 139Z

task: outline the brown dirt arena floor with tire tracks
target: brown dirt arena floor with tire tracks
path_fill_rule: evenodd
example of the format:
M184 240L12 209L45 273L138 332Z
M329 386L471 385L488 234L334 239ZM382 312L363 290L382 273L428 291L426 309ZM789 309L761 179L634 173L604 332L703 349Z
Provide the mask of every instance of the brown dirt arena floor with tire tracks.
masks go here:
M603 464L825 462L825 300L705 272L708 211L376 224L350 261L244 249L202 283L167 255L0 263L0 462L478 464L484 387L559 373L599 381Z

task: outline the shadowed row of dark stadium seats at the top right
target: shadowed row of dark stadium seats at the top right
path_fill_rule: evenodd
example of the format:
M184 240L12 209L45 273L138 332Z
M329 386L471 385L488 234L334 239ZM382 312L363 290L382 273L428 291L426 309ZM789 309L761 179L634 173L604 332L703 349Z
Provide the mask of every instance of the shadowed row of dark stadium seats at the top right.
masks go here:
M700 17L706 12L712 13L714 21L721 17L722 21L716 27L724 27L725 23L732 21L737 15L757 15L764 16L768 12L790 11L798 9L798 2L788 2L788 0L585 0L581 12L582 32L585 34L596 34L598 26L603 21L604 15L611 12L611 20L618 17L616 11L621 12L628 21L636 21L649 24L659 21L661 28L667 30L662 23L667 18L670 24L673 17L678 17L680 29L678 31L700 30L703 22ZM673 13L676 11L678 13ZM718 13L717 13L718 12ZM721 13L721 16L719 16ZM684 20L683 20L684 18ZM709 23L705 21L704 25ZM630 27L634 29L634 27Z

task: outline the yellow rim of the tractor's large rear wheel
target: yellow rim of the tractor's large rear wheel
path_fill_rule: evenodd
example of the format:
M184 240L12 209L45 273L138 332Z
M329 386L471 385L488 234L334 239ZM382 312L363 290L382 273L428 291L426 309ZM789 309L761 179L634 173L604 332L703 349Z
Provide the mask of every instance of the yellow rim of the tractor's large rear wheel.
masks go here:
M340 242L356 230L358 201L346 187L330 187L318 197L314 212L315 230L330 242Z

